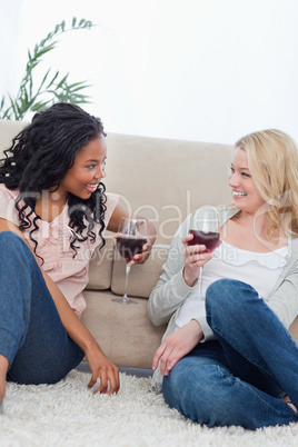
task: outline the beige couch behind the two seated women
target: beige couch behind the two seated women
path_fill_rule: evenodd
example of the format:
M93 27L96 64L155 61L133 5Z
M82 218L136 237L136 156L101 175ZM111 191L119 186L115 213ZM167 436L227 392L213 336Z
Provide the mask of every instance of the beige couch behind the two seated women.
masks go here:
M0 150L22 126L0 120ZM150 368L165 326L150 322L148 296L185 217L202 205L229 203L231 147L116 133L109 133L107 142L107 191L119 195L129 211L149 218L158 238L149 260L131 268L128 295L138 305L127 306L111 301L123 294L125 262L115 250L112 235L107 234L105 249L90 264L82 320L116 365ZM291 332L298 340L298 319Z

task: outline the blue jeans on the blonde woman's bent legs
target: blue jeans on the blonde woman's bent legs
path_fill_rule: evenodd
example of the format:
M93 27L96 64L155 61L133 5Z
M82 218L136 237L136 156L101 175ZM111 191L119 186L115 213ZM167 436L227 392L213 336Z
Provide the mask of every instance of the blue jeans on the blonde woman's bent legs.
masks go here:
M298 423L298 346L249 285L220 279L206 294L216 340L198 344L163 378L165 400L199 424L266 426Z

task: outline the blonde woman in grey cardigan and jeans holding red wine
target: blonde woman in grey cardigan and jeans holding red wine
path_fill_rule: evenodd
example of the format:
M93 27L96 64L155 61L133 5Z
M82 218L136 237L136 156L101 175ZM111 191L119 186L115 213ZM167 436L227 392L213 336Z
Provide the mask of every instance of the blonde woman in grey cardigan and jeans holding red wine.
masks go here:
M189 216L149 298L152 322L169 321L153 385L209 427L298 421L298 346L288 331L298 315L296 143L275 129L244 137L229 186L232 207L218 209L221 244L212 255L189 246Z

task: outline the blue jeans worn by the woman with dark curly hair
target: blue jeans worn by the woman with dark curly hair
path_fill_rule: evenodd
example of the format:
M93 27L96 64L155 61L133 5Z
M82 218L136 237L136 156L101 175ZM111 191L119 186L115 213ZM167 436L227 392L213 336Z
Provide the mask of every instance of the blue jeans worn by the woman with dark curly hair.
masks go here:
M0 232L0 354L7 379L54 384L83 358L60 320L36 259L13 232Z

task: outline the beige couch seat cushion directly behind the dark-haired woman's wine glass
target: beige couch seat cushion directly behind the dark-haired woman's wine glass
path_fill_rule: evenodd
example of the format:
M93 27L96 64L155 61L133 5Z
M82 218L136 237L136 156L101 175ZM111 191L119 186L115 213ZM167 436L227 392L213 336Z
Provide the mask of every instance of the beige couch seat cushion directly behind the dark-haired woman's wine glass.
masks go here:
M156 286L161 267L167 259L169 246L155 245L150 258L142 265L131 267L128 295L131 297L148 298L152 288ZM115 251L112 266L111 289L113 294L123 295L126 281L126 262L119 252Z

